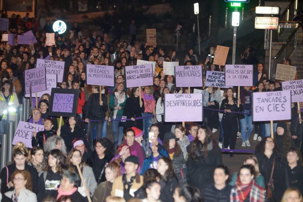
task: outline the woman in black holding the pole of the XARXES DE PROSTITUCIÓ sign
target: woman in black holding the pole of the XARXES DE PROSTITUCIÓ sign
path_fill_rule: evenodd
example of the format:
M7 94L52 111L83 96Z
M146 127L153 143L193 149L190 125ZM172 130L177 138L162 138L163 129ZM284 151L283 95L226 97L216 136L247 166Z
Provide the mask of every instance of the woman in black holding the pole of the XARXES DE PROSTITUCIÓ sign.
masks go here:
M142 106L142 107L140 107ZM122 114L122 119L131 119L130 121L121 121L119 126L124 127L125 131L130 127L137 127L140 130L143 130L143 121L142 119L135 120L135 118L142 117L141 113L144 113L144 100L141 98L139 101L139 87L132 88L132 96L126 99L124 111Z

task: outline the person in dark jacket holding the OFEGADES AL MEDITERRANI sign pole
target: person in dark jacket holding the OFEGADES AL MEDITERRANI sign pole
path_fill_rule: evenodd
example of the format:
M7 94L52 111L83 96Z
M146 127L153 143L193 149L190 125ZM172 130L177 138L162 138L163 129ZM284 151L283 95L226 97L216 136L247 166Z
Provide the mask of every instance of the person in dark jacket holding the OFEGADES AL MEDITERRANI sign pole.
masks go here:
M92 86L92 94L89 96L86 102L85 108L85 122L88 123L88 144L90 147L92 145L92 131L97 124L97 138L102 137L102 129L105 121L105 112L108 110L107 98L102 95L100 100L99 86ZM89 121L91 120L91 121ZM92 121L93 120L93 121Z

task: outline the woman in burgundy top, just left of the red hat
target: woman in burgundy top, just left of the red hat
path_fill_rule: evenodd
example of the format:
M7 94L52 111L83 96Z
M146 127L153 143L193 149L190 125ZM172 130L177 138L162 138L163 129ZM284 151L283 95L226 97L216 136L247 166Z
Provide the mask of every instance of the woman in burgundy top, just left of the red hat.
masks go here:
M129 146L129 151L131 152L131 155L138 157L138 173L140 173L145 158L141 145L137 141L135 141L135 131L132 128L128 128L125 131L125 140L123 141L123 144Z

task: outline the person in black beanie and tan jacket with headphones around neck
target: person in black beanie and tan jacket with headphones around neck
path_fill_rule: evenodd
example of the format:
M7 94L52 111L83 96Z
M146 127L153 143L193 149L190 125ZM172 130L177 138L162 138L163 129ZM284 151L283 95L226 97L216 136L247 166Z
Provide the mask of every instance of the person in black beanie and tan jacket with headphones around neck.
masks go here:
M143 185L143 176L137 173L139 159L129 156L125 159L125 174L117 177L112 186L112 196L129 200L135 197L134 192Z

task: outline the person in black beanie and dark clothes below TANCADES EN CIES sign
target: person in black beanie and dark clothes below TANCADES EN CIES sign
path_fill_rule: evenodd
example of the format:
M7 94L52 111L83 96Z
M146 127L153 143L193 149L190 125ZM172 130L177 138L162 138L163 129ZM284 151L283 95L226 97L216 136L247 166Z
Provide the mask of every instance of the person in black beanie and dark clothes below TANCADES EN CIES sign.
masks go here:
M291 136L288 134L287 124L283 121L279 121L276 127L275 139L277 141L276 146L280 149L282 154L290 147L295 147L294 141L291 139Z

